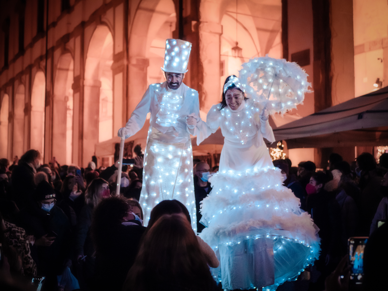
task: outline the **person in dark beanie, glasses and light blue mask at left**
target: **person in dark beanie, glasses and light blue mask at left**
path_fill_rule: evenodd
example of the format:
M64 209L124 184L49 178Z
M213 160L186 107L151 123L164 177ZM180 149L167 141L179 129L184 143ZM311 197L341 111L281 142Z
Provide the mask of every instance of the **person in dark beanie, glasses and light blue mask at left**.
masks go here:
M38 254L38 276L47 278L46 287L57 286L56 276L61 275L70 257L70 223L61 208L55 205L55 191L43 180L33 194L34 203L20 212L21 226L27 235L35 237Z

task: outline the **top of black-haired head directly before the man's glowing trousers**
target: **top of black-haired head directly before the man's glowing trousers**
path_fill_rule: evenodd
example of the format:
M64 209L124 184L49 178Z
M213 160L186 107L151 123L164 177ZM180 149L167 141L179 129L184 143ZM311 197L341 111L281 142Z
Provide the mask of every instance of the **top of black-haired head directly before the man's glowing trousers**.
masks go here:
M180 214L183 213L187 220L191 223L190 213L187 210L186 206L179 202L178 200L163 200L159 204L157 204L151 210L151 215L149 218L147 230L149 230L152 225L165 214Z

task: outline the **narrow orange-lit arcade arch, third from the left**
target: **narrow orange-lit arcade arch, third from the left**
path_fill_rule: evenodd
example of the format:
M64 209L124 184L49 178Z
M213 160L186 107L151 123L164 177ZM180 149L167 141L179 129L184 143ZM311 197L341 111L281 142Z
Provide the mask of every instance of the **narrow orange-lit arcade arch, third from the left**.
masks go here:
M45 74L35 74L31 92L31 141L30 148L44 153L45 138Z

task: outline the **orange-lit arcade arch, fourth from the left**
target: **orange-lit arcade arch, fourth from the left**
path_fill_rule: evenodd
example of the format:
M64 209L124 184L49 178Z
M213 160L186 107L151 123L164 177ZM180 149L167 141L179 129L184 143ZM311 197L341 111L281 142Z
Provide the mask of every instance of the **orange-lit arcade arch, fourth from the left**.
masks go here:
M70 53L61 55L54 79L52 155L61 165L72 163L74 61ZM66 154L65 154L66 153Z

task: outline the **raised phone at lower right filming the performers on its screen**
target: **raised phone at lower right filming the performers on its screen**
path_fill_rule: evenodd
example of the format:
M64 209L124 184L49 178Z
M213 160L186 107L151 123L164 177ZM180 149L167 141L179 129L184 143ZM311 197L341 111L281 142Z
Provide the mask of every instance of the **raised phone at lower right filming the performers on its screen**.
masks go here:
M368 237L350 237L348 239L349 264L352 266L349 280L349 285L353 286L351 289L361 288L364 279L364 249L367 241Z

